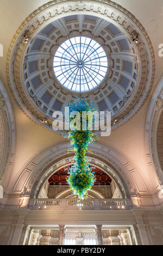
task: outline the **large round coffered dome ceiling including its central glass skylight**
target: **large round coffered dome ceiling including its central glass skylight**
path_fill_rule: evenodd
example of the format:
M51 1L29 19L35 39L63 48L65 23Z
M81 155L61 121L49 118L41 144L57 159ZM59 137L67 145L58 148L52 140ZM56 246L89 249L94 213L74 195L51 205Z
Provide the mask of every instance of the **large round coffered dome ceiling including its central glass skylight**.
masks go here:
M98 111L111 111L112 129L127 121L139 109L152 85L154 58L151 56L152 47L150 50L148 48L151 42L147 34L148 44L144 38L141 38L140 31L133 30L134 25L127 28L130 33L126 32L124 25L126 24L120 26L120 22L116 25L115 21L109 22L91 13L91 15L61 17L36 30L34 35L26 30L26 34L29 33L29 40L25 44L22 39L19 48L22 53L18 56L19 50L17 51L18 55L14 63L15 87L11 82L14 96L21 107L24 106L23 111L37 123L52 130L53 112L64 111L64 105L69 100L70 102L75 100L80 94L84 95L88 102L95 101ZM137 44L133 41L135 33L139 35ZM88 82L91 81L89 76L92 70L87 69L87 63L80 62L82 59L77 57L75 63L76 53L72 51L70 56L70 51L66 52L68 46L65 42L76 44L75 40L81 38L86 38L91 44L95 42L103 49L103 55L106 56L103 70L100 70L103 63L99 59L93 64L98 70L95 66L91 66L91 69L95 70L95 76L91 75L93 80L94 77L97 79L100 72L100 75L102 74L94 85ZM91 46L92 49L93 46L96 48L94 44ZM77 48L74 51L77 51ZM93 50L92 52L97 54ZM61 59L65 58L63 56L66 56L65 62ZM94 59L97 59L96 56L92 58L92 62L95 62ZM70 61L77 68L73 69L76 70L73 76L70 74L72 72ZM67 63L70 69L65 69L66 72L64 70L62 74L57 73L61 70L60 65L64 63ZM88 78L84 69L89 74ZM83 72L84 82L76 77L79 72L80 74ZM63 80L64 76L65 80ZM71 81L65 85L69 77ZM81 89L78 83L90 85L85 85Z

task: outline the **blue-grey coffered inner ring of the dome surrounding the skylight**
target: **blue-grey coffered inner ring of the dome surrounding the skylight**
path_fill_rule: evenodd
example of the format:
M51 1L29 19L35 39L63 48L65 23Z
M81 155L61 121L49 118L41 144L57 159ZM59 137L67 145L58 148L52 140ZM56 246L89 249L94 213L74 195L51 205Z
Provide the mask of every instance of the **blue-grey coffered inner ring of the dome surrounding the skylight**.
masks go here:
M102 23L103 26L99 26ZM79 32L79 27L82 32ZM35 36L28 48L24 68L24 82L29 95L34 100L37 97L40 108L50 116L54 110L60 111L67 99L75 99L75 94L70 94L56 79L53 57L66 38L79 35L96 39L104 47L110 63L108 76L101 83L101 87L84 95L87 100L96 102L99 111L111 110L112 114L116 114L124 105L124 97L131 96L136 86L137 65L134 63L134 49L127 36L116 26L95 16L67 16L50 23Z

